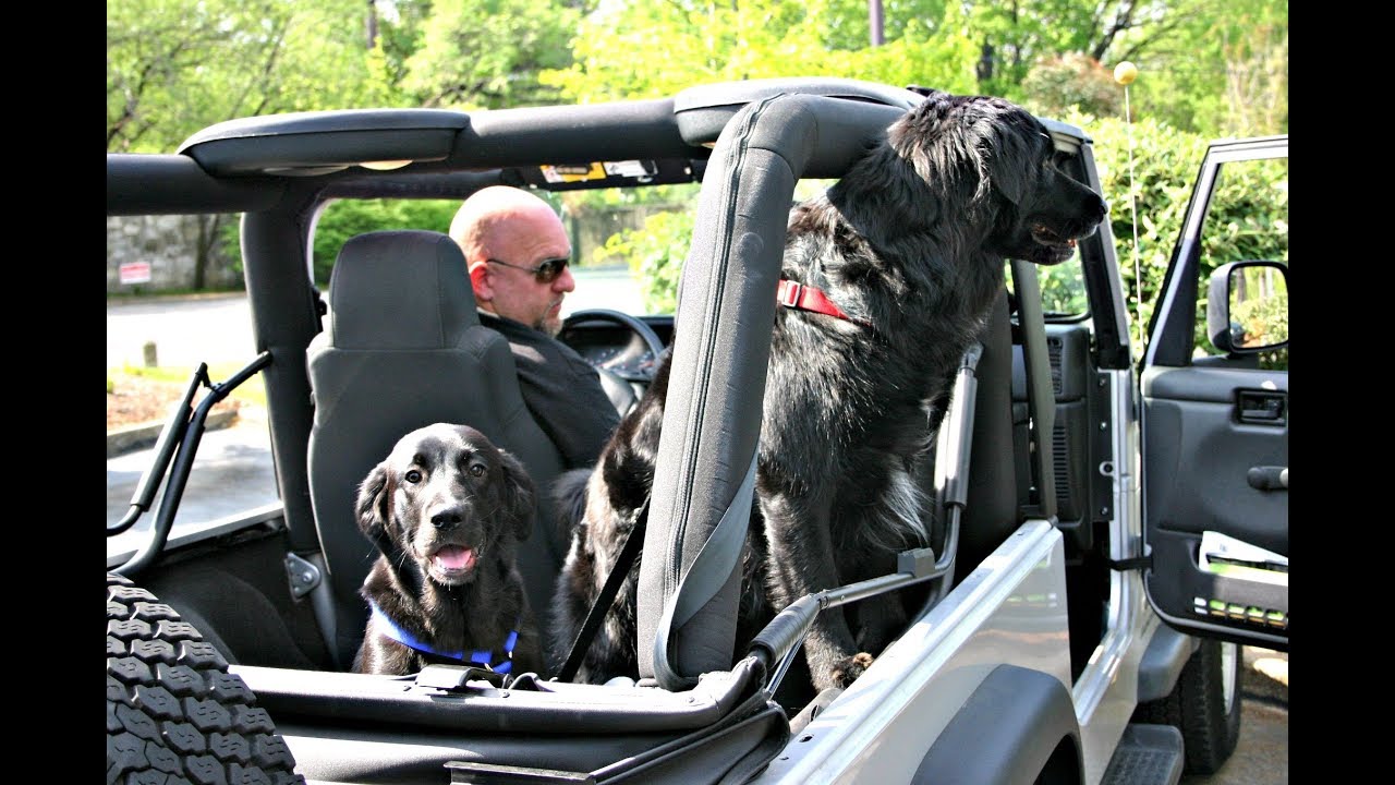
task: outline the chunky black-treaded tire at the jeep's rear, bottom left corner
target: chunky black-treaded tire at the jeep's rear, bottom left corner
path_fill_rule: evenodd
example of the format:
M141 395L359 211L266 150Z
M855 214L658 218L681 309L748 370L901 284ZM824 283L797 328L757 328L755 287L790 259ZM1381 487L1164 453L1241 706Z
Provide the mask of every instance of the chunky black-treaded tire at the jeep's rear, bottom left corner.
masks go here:
M106 574L106 782L304 782L266 710L177 612Z

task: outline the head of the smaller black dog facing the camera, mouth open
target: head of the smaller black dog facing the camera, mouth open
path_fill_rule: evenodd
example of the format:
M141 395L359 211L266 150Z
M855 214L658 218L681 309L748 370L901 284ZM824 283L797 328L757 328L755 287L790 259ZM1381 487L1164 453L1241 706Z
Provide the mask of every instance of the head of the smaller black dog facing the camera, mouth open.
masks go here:
M533 480L478 430L435 423L403 436L359 486L359 529L393 568L409 560L441 585L463 585L491 560L513 560L533 531Z

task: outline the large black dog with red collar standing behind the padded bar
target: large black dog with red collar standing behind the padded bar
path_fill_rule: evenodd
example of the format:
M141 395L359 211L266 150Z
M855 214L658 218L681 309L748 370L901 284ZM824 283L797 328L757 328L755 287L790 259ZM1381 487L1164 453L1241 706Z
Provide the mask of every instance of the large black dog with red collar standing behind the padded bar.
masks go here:
M928 545L910 468L925 460L1004 260L1064 261L1108 211L1053 154L1046 129L1013 103L932 94L791 212L781 275L831 307L806 295L805 307L777 309L734 654L771 612L894 573L897 552ZM649 494L667 381L665 362L594 474L565 475L554 492L558 510L585 504L554 598L559 647L575 640ZM579 680L636 675L635 574ZM805 641L817 690L850 684L907 622L894 595L844 609L820 613Z

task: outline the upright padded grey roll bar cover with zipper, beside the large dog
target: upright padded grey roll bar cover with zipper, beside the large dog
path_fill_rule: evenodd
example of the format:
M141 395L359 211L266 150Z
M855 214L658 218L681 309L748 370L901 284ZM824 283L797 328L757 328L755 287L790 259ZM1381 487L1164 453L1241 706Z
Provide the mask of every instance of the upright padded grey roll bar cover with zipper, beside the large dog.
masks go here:
M739 559L724 580L706 577L703 582L720 589L692 619L675 619L667 668L656 668L653 644L665 605L756 451L794 186L815 154L822 124L845 126L847 109L845 101L812 95L748 103L709 159L679 289L639 573L639 670L664 689L688 687L698 675L732 665ZM864 144L890 123L883 113L859 116L872 120L858 140ZM841 145L854 138L836 135Z

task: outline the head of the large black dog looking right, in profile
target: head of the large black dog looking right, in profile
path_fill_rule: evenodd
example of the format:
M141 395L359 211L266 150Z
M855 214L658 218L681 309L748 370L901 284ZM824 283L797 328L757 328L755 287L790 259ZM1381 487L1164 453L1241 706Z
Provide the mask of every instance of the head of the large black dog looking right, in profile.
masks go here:
M1035 264L1071 257L1109 208L1057 168L1056 144L1025 109L1002 98L932 92L887 129L887 141L942 198L943 217L989 228L985 247Z

